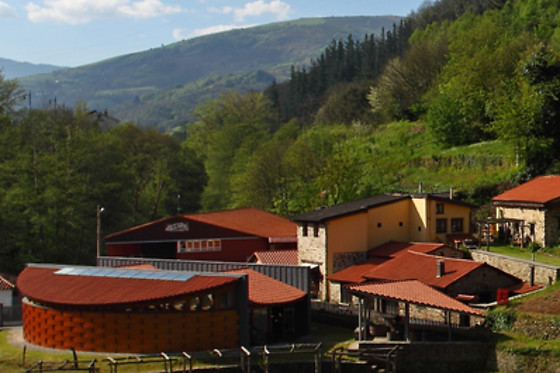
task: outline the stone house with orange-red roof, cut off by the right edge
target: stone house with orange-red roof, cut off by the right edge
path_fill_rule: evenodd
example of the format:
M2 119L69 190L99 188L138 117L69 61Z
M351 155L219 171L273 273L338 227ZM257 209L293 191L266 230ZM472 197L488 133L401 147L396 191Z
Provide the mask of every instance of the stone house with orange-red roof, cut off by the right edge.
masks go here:
M553 246L560 238L560 176L539 176L492 198L514 242Z

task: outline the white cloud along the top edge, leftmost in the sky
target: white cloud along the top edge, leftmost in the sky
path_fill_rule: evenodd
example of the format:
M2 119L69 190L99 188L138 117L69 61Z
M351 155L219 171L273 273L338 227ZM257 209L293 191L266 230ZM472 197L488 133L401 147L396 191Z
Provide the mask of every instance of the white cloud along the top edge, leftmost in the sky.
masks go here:
M182 11L178 5L165 5L160 0L44 0L25 6L32 22L80 24L96 18L149 18Z

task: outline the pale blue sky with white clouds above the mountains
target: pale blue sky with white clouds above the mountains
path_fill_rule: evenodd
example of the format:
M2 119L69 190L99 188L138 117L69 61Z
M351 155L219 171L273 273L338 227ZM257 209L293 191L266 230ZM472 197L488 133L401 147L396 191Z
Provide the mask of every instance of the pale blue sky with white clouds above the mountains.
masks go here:
M425 0L0 0L0 57L75 67L307 17L406 16Z

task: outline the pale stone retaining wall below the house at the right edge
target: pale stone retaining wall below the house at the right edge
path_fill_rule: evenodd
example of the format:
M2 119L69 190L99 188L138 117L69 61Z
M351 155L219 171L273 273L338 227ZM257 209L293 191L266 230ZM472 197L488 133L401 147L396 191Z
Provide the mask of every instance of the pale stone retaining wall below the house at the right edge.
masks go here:
M548 286L560 278L560 267L512 258L491 251L472 250L471 254L473 260L486 262L527 283L533 281L535 285Z

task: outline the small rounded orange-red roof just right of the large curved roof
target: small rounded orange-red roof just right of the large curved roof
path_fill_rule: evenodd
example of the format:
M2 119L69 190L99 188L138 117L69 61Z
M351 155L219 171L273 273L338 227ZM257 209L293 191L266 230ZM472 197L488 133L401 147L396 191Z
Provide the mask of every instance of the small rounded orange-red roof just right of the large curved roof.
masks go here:
M238 269L226 273L243 273L249 280L249 301L257 305L275 305L296 302L303 299L303 290L263 275L252 269Z

